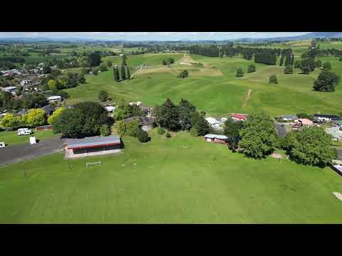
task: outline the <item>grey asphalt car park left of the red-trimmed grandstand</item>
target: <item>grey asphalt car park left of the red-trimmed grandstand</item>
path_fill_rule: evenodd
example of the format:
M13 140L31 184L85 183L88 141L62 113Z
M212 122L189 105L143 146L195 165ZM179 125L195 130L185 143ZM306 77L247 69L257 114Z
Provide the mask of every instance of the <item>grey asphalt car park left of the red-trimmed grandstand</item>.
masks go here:
M19 144L0 149L0 166L63 151L64 139L54 137L37 144Z

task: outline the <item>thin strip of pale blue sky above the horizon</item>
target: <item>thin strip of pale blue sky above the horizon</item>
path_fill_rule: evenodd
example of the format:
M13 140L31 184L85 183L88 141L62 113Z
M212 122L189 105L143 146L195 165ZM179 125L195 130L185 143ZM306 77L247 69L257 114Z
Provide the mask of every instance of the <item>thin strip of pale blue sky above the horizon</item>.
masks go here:
M309 32L0 32L0 38L83 38L127 41L227 40L300 36Z

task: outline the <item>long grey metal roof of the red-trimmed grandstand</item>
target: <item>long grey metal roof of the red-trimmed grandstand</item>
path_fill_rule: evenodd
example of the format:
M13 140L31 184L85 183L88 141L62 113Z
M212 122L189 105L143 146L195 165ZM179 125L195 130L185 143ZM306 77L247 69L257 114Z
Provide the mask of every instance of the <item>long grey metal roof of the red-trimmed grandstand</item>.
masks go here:
M66 139L66 142L64 142L64 144L68 146L68 149L120 143L120 137L118 136L88 137L84 139Z

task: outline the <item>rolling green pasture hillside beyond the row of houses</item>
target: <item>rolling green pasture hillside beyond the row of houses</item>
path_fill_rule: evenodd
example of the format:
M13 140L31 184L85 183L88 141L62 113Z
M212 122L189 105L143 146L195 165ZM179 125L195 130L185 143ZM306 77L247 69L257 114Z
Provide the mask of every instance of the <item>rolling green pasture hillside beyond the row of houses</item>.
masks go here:
M169 54L170 55L170 54ZM160 55L133 55L128 57L128 63L140 65L158 65L164 56ZM172 55L172 54L171 54ZM181 57L181 55L180 55ZM299 112L331 113L342 112L342 83L336 86L335 92L315 92L312 87L320 70L316 69L309 75L299 74L295 70L292 75L284 74L284 67L268 66L243 58L209 58L201 55L191 56L196 62L206 63L211 68L219 69L222 75L201 75L199 68L188 69L190 76L187 79L177 78L172 72L156 72L135 75L132 80L115 82L113 70L100 73L97 76L86 76L86 84L66 90L71 96L68 102L82 100L98 100L100 90L109 92L110 97L123 97L129 101L142 101L154 106L165 101L167 97L178 102L182 97L190 100L199 110L210 114L228 114L232 112L251 113L264 111L276 116L279 114L291 114ZM108 57L117 60L118 57ZM176 58L175 58L176 60ZM338 58L321 58L322 61L330 61L333 72L342 73L342 62ZM257 72L247 74L247 67L254 63ZM159 64L160 65L160 64ZM245 75L243 78L235 78L237 68L241 67ZM175 65L179 69L180 65ZM172 70L172 68L170 68ZM206 72L210 69L206 69ZM269 76L277 75L279 84L269 84ZM251 90L250 98L247 93Z

